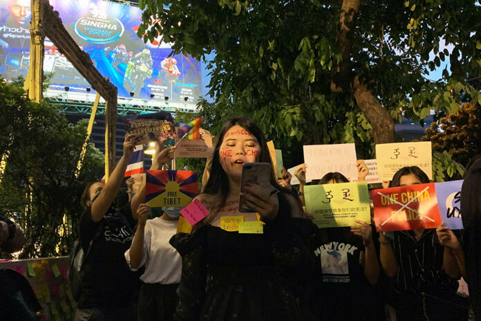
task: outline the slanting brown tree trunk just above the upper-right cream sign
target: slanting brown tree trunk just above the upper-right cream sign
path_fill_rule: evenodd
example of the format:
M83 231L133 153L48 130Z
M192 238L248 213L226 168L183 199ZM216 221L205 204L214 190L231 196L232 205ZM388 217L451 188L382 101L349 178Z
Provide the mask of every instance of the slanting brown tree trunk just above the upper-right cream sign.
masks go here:
M359 76L352 82L352 95L357 105L372 126L372 136L376 144L394 143L394 120Z

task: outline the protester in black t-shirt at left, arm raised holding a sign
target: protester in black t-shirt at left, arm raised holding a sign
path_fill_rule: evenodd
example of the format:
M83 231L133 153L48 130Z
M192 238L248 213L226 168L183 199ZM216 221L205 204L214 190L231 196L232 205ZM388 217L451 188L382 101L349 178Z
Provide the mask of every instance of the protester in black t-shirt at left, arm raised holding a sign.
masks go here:
M82 194L84 213L79 219L79 239L86 259L82 265L84 276L77 300L75 321L133 320L133 294L138 286L138 275L127 266L124 253L134 235L140 196L131 202L117 197L133 147L140 137L126 135L124 154L113 169L107 183L89 183ZM165 152L164 152L165 151ZM153 158L151 169L162 166L169 158L164 149ZM117 199L119 200L117 202Z

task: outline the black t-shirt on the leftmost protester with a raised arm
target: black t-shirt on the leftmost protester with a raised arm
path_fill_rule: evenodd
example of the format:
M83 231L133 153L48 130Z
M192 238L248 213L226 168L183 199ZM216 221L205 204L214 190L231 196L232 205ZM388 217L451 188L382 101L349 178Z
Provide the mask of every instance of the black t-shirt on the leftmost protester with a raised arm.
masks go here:
M137 273L131 272L124 253L134 235L130 203L123 208L113 206L99 222L92 221L88 208L79 221L79 235L84 252L100 230L84 263L82 295L77 302L81 309L96 306L123 307L132 303Z

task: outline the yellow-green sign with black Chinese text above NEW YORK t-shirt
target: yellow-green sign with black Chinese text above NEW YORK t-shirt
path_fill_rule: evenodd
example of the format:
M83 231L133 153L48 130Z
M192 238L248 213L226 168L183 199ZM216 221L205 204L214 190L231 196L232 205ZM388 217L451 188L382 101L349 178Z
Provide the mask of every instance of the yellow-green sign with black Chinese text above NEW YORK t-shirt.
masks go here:
M305 210L319 228L370 223L368 183L339 183L304 187Z

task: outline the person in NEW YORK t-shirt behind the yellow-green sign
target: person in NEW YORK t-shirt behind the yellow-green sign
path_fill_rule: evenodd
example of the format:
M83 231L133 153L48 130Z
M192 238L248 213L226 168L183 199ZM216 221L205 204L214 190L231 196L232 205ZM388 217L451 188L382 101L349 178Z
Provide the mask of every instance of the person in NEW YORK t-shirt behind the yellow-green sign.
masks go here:
M359 171L359 180L368 171ZM319 184L349 183L338 172L323 176ZM317 228L311 248L317 257L317 291L314 301L319 320L384 320L379 289L379 244L375 230L364 221L357 226ZM333 309L342 302L342 309Z

